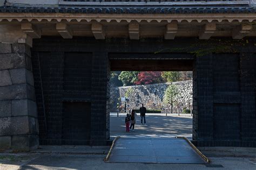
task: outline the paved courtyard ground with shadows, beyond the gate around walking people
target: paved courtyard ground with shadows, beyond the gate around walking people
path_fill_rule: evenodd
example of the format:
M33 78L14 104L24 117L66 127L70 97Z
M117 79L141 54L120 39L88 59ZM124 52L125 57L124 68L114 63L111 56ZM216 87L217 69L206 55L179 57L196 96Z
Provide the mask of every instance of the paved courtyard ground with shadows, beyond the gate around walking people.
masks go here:
M110 114L110 136L122 137L176 137L192 138L192 117L190 114L146 114L146 125L140 124L140 116L136 118L134 131L125 132L124 113ZM170 116L171 115L171 116Z

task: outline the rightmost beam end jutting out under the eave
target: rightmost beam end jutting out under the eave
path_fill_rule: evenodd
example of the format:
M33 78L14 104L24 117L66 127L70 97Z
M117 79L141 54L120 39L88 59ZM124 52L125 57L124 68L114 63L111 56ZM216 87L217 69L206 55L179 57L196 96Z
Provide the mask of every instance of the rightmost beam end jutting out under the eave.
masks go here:
M233 39L242 39L246 34L250 33L252 30L252 25L238 25L232 31Z

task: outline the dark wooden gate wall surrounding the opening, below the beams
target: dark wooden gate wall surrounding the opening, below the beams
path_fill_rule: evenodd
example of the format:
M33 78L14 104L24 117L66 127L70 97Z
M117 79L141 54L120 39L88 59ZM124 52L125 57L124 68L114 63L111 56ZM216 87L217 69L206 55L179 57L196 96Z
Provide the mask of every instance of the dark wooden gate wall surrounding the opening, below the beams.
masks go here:
M221 41L238 44L237 40ZM193 69L194 144L256 147L256 42L242 41L235 51L193 55L186 47L200 51L200 44L218 46L219 40L33 40L40 143L105 145L109 139L110 70L146 70L149 67L137 66L150 65L154 70Z

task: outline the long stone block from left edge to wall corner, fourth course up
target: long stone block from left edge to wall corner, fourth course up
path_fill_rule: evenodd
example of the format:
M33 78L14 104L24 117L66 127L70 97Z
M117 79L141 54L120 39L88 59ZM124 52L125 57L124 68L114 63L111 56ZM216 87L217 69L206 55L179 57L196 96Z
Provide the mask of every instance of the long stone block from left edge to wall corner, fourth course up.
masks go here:
M15 84L0 87L0 100L29 98L35 101L35 88L28 84Z

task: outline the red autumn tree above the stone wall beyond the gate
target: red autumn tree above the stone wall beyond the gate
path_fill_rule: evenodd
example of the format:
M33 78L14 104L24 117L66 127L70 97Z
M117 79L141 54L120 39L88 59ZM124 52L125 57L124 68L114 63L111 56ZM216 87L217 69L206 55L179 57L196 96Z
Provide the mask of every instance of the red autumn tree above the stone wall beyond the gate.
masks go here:
M161 72L139 72L138 81L134 82L136 85L154 84L164 82L161 77Z

